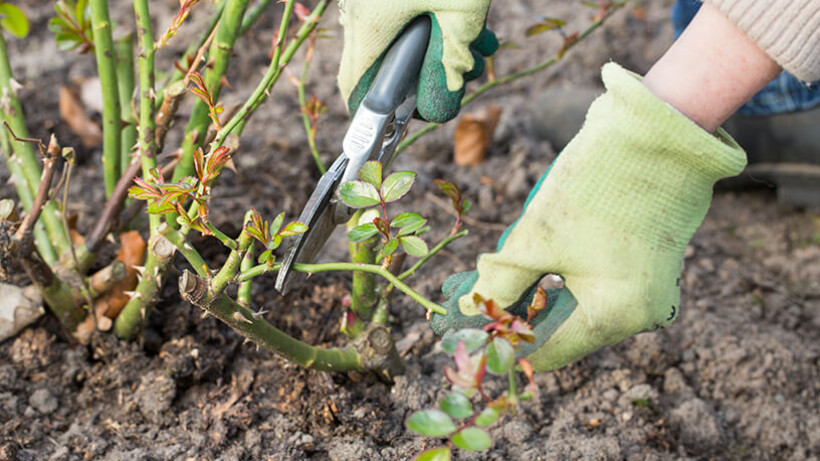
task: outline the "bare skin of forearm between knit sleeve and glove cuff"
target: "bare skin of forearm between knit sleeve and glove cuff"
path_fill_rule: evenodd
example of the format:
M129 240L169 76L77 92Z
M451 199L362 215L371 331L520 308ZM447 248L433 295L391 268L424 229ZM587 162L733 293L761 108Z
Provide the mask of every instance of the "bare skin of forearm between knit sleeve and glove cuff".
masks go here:
M656 96L712 132L780 70L732 22L704 4L643 82Z

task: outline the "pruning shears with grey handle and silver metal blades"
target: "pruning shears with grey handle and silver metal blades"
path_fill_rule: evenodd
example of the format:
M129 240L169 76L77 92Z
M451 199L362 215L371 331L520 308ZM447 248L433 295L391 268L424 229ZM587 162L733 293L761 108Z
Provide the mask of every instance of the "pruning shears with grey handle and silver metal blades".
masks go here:
M308 199L299 221L308 230L292 237L276 278L276 289L285 294L293 265L313 262L339 224L347 222L353 209L338 197L341 184L358 178L367 161L393 161L407 122L416 111L416 86L430 38L430 19L419 17L395 40L382 61L370 90L362 99L342 141L342 154L322 175Z

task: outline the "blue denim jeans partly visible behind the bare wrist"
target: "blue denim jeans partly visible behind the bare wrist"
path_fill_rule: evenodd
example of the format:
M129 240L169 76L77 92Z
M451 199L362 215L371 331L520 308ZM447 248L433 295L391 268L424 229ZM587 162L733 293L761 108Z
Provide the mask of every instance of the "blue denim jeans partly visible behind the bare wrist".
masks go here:
M689 25L700 9L699 0L678 0L672 7L675 38ZM766 116L807 110L820 106L820 82L806 84L782 72L738 109L738 114Z

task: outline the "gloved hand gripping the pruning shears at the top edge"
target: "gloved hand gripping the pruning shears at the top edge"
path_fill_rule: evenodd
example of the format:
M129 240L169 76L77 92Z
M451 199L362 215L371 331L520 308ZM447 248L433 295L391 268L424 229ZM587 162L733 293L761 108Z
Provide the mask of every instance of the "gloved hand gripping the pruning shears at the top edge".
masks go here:
M489 0L340 0L344 50L339 88L350 113L358 109L393 39L411 20L427 14L433 27L421 69L418 112L439 123L455 117L465 81L481 75L484 57L498 49L495 35L484 27L489 6Z

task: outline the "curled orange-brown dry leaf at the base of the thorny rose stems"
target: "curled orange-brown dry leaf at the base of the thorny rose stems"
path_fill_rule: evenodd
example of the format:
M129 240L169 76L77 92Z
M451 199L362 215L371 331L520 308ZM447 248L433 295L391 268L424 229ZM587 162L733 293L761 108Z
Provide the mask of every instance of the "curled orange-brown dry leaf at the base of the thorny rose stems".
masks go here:
M106 330L106 326L111 328L111 323L101 319L103 317L108 319L117 318L122 308L131 299L125 292L132 291L137 286L137 269L135 266L142 266L145 261L145 240L142 239L139 232L129 231L120 234L120 251L117 253L116 259L125 263L125 270L127 271L125 278L94 300L94 311L97 313L98 319L97 328L103 331Z

